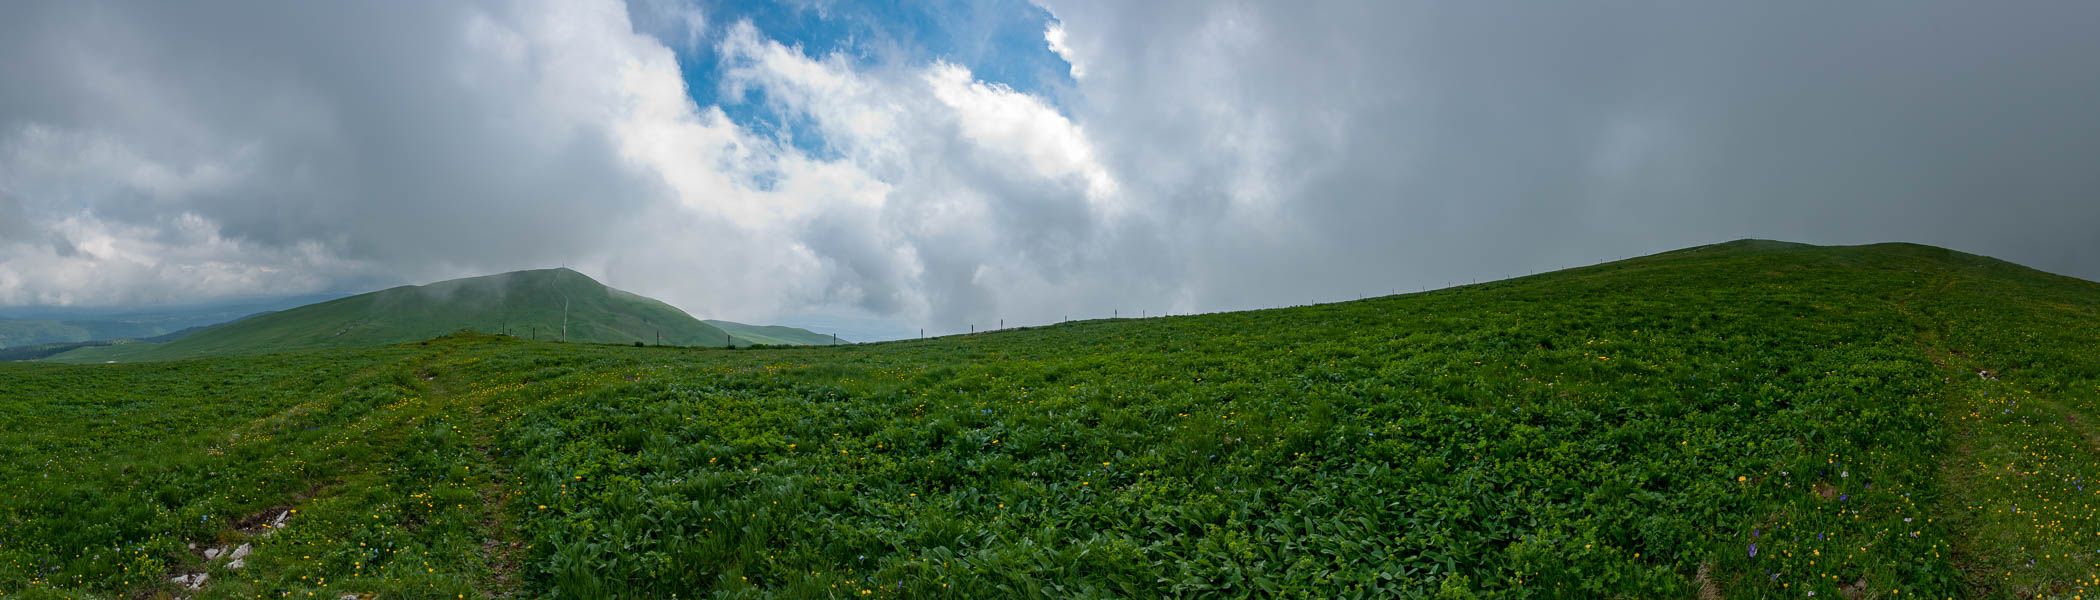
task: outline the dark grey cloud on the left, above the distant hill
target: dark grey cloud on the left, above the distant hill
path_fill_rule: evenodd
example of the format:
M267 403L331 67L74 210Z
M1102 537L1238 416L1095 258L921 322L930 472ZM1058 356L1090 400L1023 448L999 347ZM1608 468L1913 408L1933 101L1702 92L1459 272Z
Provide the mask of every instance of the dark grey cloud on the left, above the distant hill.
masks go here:
M38 214L197 214L256 248L397 269L544 264L647 197L601 130L559 126L533 69L456 61L458 2L32 2L0 19L0 132ZM21 15L27 13L27 15ZM521 126L540 124L540 126ZM65 164L113 170L69 178ZM128 180L126 180L128 178ZM418 273L399 275L428 275Z

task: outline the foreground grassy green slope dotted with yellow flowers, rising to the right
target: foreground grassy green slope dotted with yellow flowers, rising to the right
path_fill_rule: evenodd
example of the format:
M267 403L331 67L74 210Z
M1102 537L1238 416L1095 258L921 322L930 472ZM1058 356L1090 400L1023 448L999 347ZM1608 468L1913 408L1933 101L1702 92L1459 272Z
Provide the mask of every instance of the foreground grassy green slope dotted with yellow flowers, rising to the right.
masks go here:
M454 334L0 382L10 598L2100 590L2100 283L1909 243L882 344Z

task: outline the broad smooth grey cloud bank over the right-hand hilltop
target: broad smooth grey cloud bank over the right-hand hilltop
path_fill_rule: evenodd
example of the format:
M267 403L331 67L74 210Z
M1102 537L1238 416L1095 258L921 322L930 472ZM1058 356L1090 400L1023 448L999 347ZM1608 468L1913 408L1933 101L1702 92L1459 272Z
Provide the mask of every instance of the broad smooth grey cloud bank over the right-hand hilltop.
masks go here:
M2094 4L1050 8L1069 105L1210 258L1212 302L1732 237L2100 277Z

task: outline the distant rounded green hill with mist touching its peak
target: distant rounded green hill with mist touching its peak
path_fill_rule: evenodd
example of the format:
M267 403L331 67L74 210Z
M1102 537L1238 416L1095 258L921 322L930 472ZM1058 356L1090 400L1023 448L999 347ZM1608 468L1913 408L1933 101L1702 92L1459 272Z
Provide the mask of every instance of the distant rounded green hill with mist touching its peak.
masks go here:
M554 342L657 344L662 340L662 344L676 346L731 342L727 331L670 304L605 287L569 269L542 269L401 285L256 315L166 344L132 342L78 348L46 361L128 363L376 346L460 329Z

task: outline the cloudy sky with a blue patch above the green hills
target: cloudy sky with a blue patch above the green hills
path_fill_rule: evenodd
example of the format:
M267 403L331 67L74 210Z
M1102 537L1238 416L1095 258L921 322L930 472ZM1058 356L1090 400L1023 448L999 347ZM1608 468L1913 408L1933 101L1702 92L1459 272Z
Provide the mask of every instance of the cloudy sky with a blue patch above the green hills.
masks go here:
M571 266L863 338L1741 237L2100 279L2096 2L4 2L0 308Z

